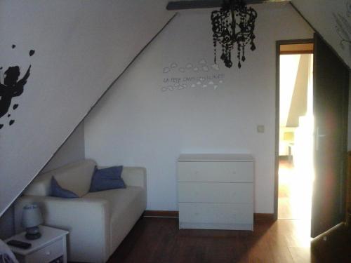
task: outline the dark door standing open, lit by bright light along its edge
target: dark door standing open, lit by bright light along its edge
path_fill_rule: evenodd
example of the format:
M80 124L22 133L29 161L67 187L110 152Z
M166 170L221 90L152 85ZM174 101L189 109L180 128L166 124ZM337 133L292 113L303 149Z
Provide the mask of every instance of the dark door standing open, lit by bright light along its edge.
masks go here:
M314 169L311 236L344 221L349 71L314 34Z

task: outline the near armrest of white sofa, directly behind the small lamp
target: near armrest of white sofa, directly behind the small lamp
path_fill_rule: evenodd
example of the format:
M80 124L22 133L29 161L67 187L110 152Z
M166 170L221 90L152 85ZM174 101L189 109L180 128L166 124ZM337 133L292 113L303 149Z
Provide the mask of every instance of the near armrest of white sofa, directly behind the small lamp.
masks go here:
M22 196L15 202L15 231L22 231L22 208L27 203L37 203L44 224L69 231L67 252L69 260L86 262L107 260L110 251L110 210L108 202L100 198L58 198L53 196ZM88 258L99 255L99 258ZM101 255L103 259L101 259ZM92 260L92 261L91 261Z

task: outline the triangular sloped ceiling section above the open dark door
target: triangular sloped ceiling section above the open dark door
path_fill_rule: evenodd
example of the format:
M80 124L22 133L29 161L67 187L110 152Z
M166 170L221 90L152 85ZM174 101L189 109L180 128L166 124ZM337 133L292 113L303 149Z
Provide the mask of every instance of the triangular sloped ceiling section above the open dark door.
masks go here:
M351 67L351 0L292 0L292 4Z

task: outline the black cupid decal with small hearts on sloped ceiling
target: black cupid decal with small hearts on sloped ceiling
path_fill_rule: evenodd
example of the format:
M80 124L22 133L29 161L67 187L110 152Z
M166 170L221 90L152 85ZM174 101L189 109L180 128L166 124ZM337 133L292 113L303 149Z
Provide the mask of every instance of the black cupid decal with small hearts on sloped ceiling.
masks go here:
M15 48L15 44L12 45L12 48ZM29 51L29 56L34 55L34 50ZM27 83L27 80L30 75L30 69L32 65L29 65L27 71L25 72L25 75L20 79L20 67L19 66L14 66L14 67L8 67L4 74L1 72L0 76L0 119L5 116L10 107L11 107L11 102L13 97L18 97L22 95L25 84ZM0 67L0 70L3 69L3 67ZM20 79L20 80L18 80ZM13 105L13 110L18 108L18 104ZM10 118L11 114L7 114L7 118ZM8 125L11 126L15 123L15 120L11 119L8 122ZM4 127L3 123L0 123L0 129Z

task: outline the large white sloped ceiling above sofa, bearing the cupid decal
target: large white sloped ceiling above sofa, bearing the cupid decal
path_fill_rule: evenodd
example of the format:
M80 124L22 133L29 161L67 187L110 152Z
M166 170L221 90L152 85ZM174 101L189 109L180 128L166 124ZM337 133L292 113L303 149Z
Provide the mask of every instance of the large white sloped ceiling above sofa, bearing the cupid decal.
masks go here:
M173 16L164 0L0 1L0 216ZM27 69L30 70L27 71ZM28 72L29 76L25 76ZM15 81L16 78L12 79ZM19 95L20 94L20 95Z

